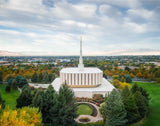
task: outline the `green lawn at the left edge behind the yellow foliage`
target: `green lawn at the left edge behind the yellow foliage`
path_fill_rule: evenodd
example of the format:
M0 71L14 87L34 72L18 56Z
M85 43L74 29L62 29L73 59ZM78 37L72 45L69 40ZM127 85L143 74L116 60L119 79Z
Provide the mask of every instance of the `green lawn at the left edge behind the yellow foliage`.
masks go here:
M5 100L5 105L9 106L10 108L15 108L16 106L16 99L20 95L20 92L17 91L12 91L10 93L5 92L5 84L0 84L0 94L2 98Z

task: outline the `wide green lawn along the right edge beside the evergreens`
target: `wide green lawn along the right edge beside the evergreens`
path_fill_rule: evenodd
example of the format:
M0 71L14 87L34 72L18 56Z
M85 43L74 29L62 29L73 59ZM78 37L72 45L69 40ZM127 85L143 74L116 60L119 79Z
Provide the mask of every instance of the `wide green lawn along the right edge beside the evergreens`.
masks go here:
M146 119L134 126L160 126L160 84L136 82L150 94L150 113ZM132 83L133 84L133 83Z

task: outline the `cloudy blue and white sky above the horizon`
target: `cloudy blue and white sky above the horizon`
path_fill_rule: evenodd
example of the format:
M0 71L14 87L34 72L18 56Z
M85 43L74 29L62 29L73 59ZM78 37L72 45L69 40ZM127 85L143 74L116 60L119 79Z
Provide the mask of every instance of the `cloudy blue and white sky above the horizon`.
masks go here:
M160 0L0 0L0 51L160 55ZM5 55L5 54L4 54Z

